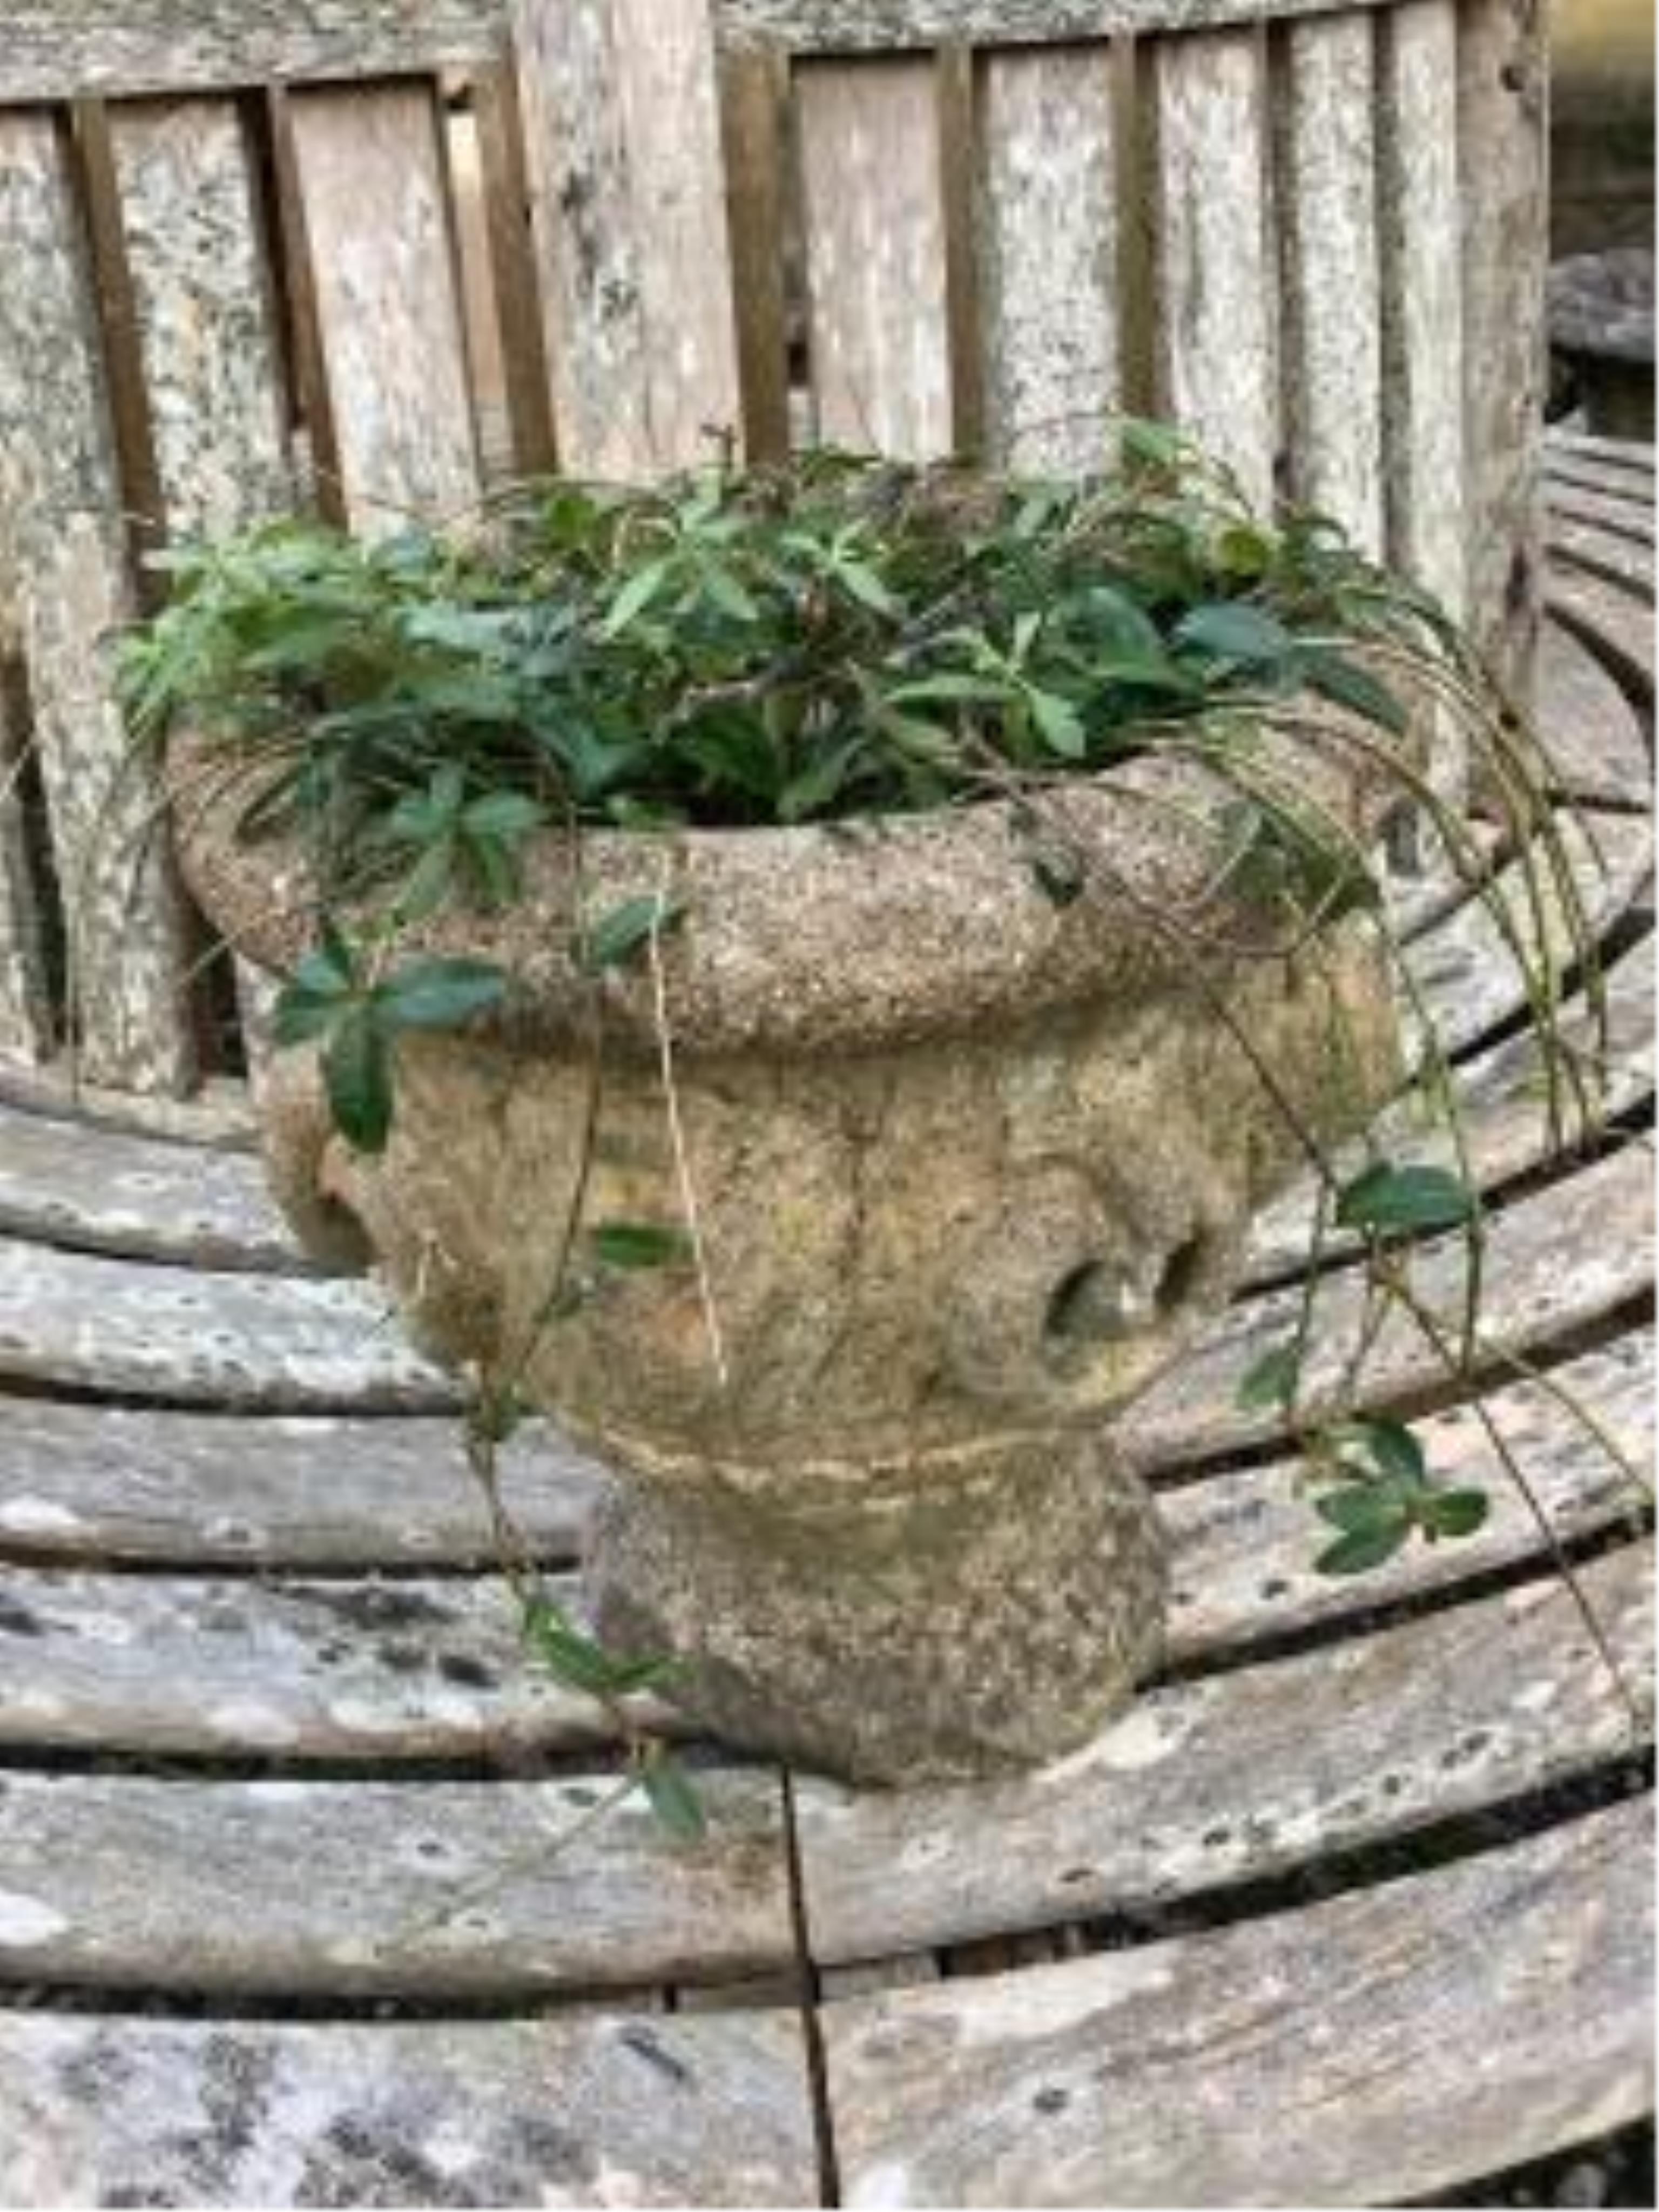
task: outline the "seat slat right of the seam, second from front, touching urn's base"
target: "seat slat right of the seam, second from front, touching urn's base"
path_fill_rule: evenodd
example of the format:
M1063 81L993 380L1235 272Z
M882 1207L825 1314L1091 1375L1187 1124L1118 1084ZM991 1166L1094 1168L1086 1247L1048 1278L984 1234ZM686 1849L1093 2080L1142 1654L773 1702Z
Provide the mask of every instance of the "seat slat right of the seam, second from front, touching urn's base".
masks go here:
M1584 1573L1641 1683L1652 1553ZM1144 1692L1088 1750L973 1787L796 1781L814 1955L883 1958L1146 1913L1542 1790L1641 1730L1555 1579L1272 1666Z

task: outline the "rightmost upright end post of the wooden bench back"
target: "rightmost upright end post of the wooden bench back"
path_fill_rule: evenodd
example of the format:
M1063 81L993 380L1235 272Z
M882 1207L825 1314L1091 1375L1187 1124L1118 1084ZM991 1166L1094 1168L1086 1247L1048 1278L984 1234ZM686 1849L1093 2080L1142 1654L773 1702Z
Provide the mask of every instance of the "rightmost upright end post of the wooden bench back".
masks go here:
M1542 0L1458 9L1471 622L1526 699L1542 619L1548 82Z

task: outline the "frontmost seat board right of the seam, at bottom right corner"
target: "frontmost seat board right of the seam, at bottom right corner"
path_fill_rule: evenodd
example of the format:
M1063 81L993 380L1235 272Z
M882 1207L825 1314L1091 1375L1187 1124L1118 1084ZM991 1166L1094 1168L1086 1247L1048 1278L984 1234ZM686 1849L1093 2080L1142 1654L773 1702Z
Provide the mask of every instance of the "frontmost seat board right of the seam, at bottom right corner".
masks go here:
M1630 1803L1303 1911L832 2004L843 2201L1433 2199L1652 2108L1650 1927Z

